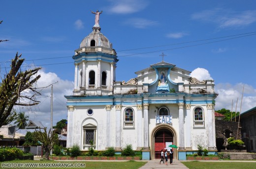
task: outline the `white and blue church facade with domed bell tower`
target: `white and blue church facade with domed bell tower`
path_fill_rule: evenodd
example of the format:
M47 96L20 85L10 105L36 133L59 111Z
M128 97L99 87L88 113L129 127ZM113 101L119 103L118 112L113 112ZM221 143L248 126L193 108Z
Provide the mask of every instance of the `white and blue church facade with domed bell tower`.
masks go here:
M99 16L99 14L98 14ZM164 61L116 81L118 56L96 23L73 56L74 91L67 99L67 147L86 151L93 143L117 152L131 144L142 159L160 158L174 148L174 158L206 147L215 154L214 81L198 81L189 71Z

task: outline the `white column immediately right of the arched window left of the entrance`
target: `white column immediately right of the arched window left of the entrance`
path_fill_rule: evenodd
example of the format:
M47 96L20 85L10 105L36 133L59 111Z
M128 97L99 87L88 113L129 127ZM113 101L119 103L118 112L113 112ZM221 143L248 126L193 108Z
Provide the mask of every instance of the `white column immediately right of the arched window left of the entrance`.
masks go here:
M137 150L142 148L142 105L137 105Z

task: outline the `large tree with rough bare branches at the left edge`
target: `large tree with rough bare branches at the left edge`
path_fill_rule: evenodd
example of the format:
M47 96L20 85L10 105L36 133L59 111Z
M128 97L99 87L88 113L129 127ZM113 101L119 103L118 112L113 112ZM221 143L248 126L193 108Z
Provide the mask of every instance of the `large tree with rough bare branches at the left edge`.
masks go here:
M37 72L41 68L21 70L24 59L16 53L11 61L10 71L4 75L0 82L0 127L13 118L13 106L32 106L39 103L36 96L35 83L40 78Z

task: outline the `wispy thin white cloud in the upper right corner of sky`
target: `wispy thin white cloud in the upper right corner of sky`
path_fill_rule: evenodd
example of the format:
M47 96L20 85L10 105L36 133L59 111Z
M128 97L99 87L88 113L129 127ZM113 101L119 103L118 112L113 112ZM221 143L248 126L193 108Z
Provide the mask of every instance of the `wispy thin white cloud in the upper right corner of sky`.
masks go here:
M238 28L256 22L256 10L235 12L216 8L195 13L192 19L215 23L219 28Z

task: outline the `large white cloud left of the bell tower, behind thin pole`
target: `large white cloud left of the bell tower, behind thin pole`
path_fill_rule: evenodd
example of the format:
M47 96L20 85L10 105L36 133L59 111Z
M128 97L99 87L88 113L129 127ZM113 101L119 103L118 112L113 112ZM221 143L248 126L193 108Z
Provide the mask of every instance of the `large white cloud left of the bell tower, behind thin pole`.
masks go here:
M41 75L36 84L38 88L55 83L53 84L53 125L56 125L56 122L67 119L66 98L64 95L73 95L73 82L63 80L53 72L43 72L40 70L38 74ZM56 83L57 81L58 83ZM36 106L17 107L16 110L18 112L26 112L30 120L41 121L44 126L49 127L51 124L51 86L42 89L41 96L37 97L37 100L40 103Z

